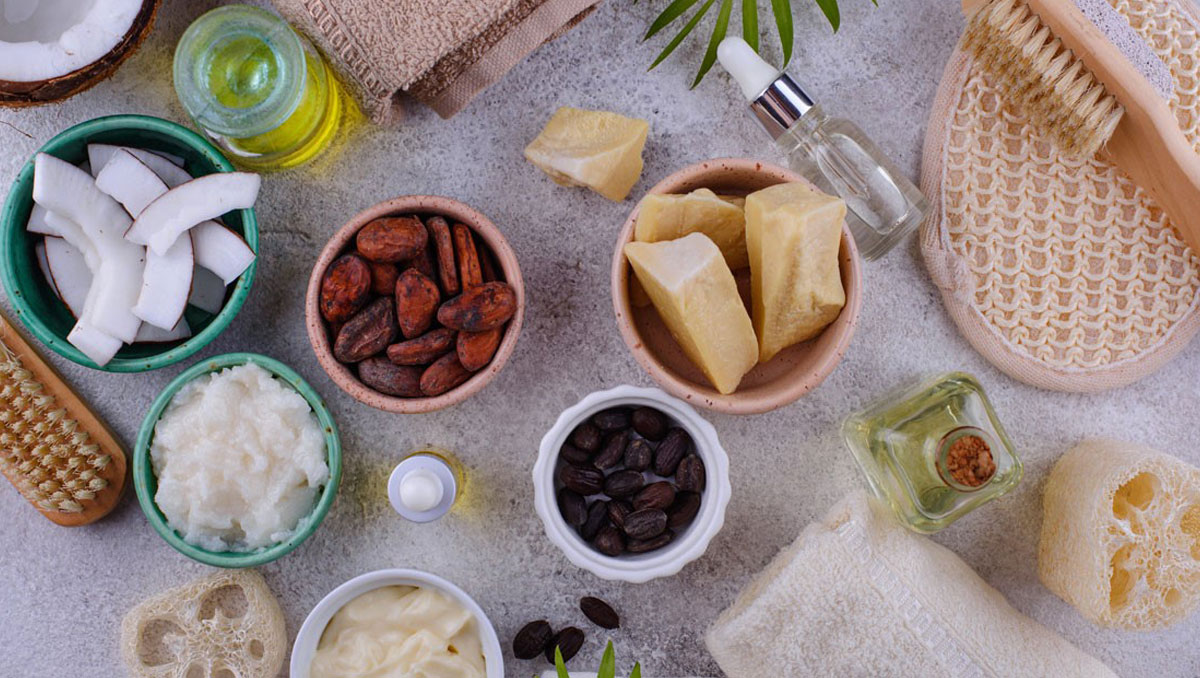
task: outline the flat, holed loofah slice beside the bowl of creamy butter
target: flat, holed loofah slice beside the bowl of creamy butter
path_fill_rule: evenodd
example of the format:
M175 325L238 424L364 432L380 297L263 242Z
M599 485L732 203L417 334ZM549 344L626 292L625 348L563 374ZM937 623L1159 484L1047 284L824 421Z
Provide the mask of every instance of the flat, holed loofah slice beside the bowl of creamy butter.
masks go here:
M164 590L121 623L121 654L136 678L274 678L287 647L283 611L251 570Z

